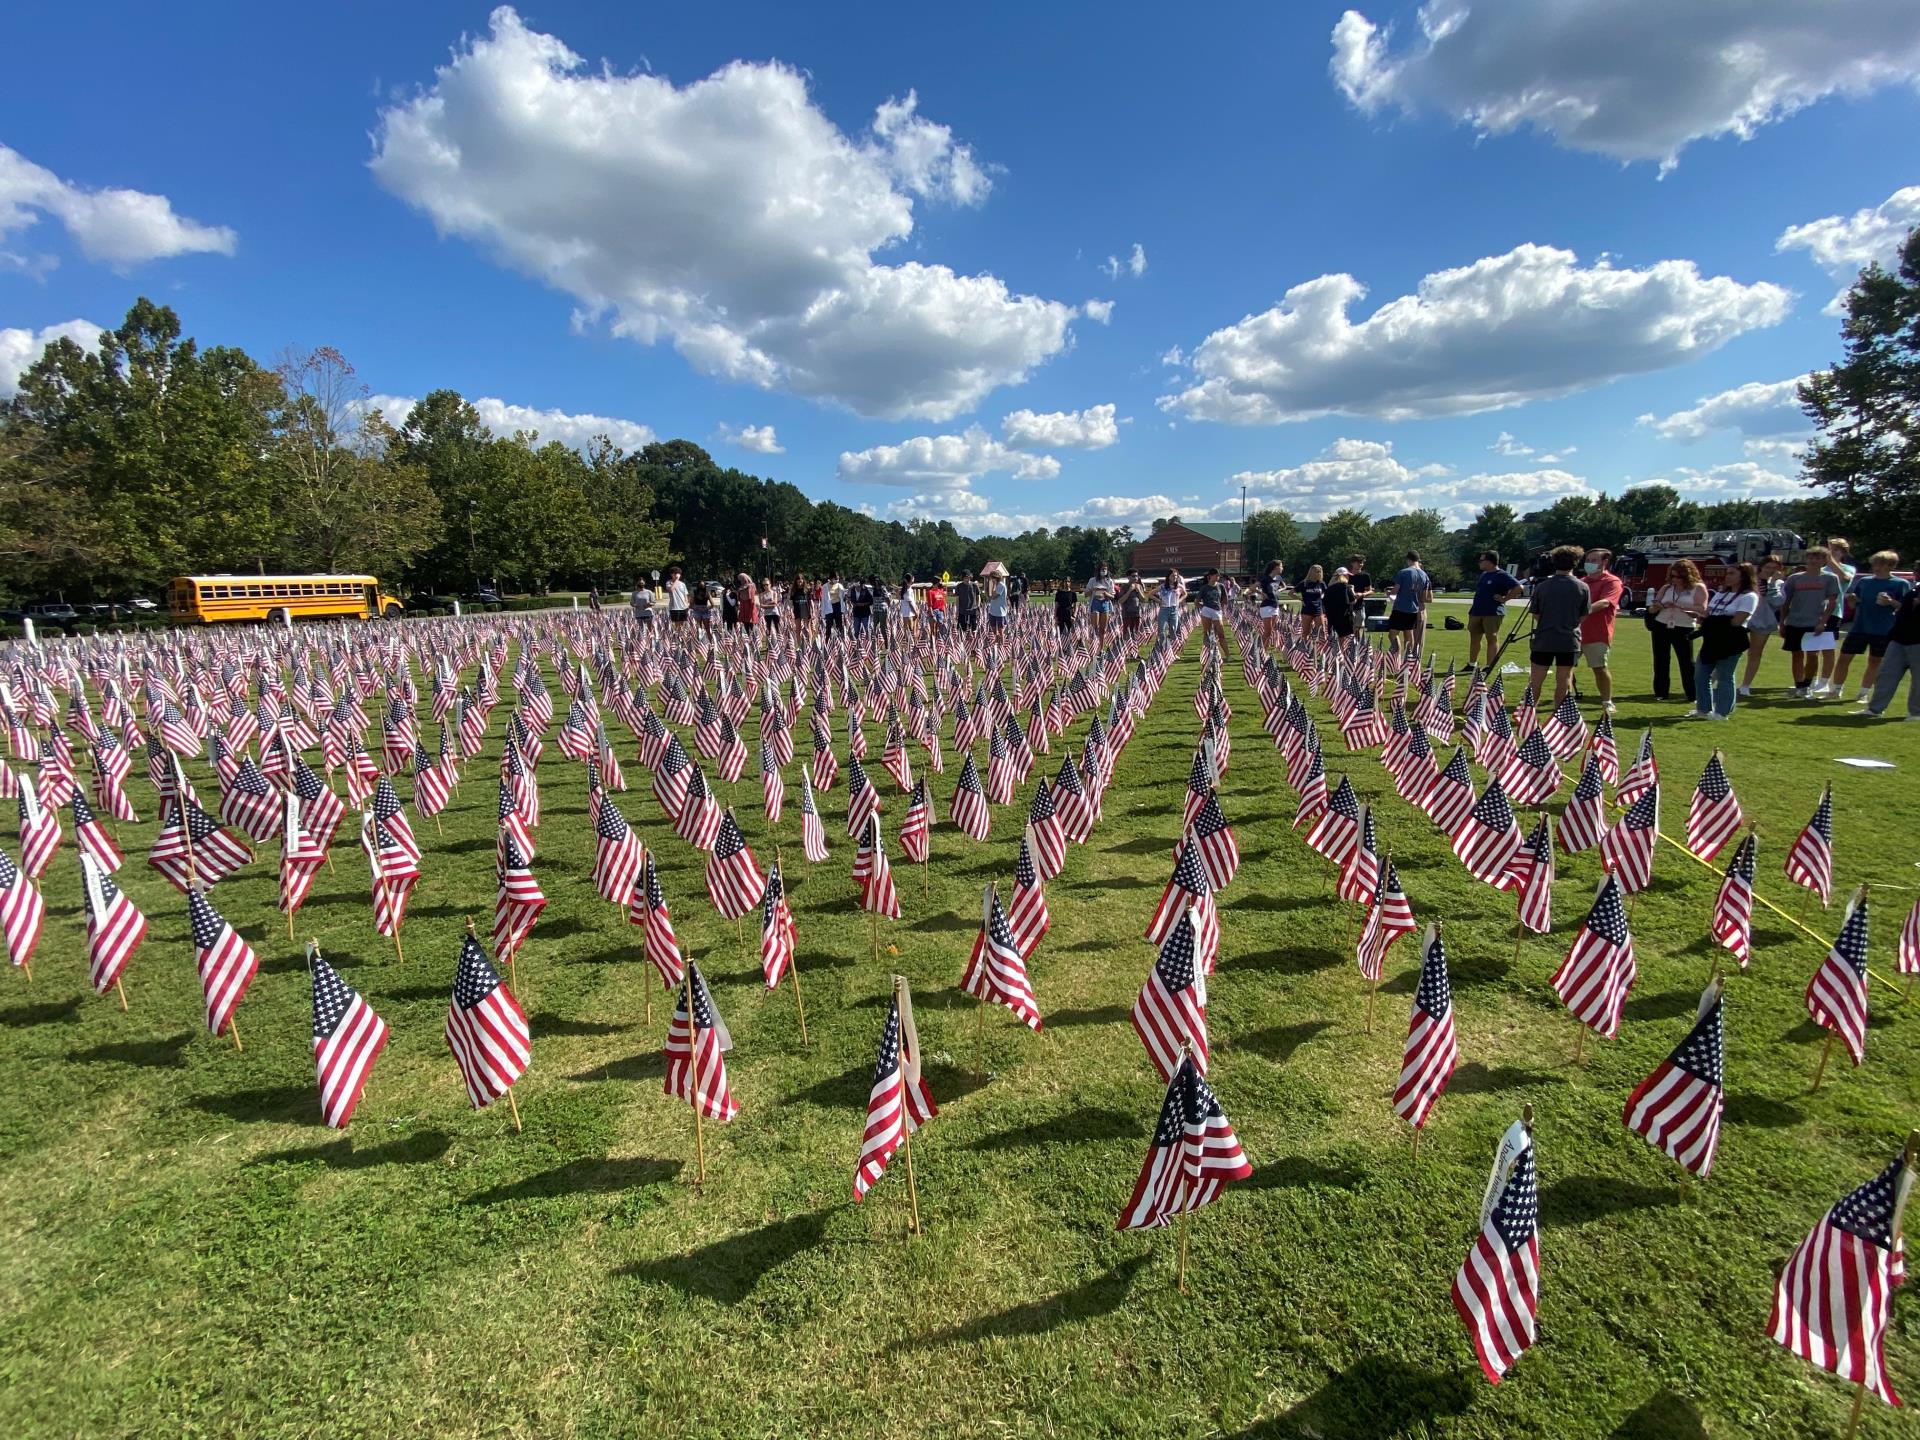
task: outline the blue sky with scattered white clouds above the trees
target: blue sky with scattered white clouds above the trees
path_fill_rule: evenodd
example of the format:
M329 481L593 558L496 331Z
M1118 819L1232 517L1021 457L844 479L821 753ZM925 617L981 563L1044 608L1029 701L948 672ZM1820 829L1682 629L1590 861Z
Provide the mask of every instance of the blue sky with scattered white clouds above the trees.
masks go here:
M150 294L970 532L1782 495L1920 223L1885 0L614 12L13 15L0 394Z

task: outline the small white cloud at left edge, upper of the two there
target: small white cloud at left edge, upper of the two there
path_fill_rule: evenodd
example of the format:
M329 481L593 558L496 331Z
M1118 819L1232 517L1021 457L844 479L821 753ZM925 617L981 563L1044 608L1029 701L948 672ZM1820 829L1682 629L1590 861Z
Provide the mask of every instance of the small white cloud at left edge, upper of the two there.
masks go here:
M230 255L238 244L225 225L177 215L167 196L117 186L88 190L0 146L0 240L25 230L40 215L60 221L86 259L115 269L196 252ZM44 271L50 263L19 255L10 259L27 271Z

